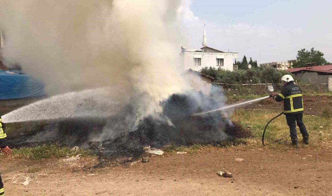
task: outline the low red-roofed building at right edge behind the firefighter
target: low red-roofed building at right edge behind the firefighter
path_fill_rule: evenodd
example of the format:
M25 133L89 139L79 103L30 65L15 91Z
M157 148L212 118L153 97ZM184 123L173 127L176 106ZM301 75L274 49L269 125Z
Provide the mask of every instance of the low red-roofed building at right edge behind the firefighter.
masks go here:
M332 91L332 65L299 67L286 70L295 76L295 79L310 84L326 84Z

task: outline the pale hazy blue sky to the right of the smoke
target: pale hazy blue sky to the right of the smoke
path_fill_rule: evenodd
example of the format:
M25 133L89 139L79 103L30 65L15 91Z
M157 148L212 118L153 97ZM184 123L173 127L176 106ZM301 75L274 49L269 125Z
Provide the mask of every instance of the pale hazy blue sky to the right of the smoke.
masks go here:
M301 48L314 47L332 62L331 0L183 0L189 48L201 48L204 24L207 46L239 52L257 63L296 59Z

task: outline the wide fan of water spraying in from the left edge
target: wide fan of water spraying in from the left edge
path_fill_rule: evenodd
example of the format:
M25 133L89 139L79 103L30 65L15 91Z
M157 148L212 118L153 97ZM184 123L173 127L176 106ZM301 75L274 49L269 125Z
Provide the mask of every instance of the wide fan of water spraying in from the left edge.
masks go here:
M98 88L56 95L20 107L2 116L5 123L68 118L105 118L123 115L128 100L121 90Z

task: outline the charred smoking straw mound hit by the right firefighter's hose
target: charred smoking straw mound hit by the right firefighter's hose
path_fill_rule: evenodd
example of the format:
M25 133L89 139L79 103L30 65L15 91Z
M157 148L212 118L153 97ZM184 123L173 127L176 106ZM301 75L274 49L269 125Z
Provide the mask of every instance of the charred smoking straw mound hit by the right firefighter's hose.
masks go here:
M220 112L193 115L217 107L212 99L205 98L202 94L195 96L199 97L172 95L162 103L164 115L172 123L147 117L141 120L136 131L112 141L104 141L105 149L113 152L108 155L135 157L143 153L145 146L161 147L172 142L178 145L218 144L251 136L250 131L238 123L232 123Z

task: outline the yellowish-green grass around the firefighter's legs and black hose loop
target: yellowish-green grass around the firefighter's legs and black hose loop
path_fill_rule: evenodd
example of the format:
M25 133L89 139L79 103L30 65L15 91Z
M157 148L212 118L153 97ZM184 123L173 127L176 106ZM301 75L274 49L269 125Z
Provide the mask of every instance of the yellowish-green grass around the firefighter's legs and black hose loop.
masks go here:
M233 121L239 121L243 126L247 126L252 131L253 138L245 139L249 146L262 146L261 139L266 123L278 115L273 110L250 110L237 109L231 116ZM305 114L305 113L304 113ZM323 117L324 116L324 117ZM303 122L310 135L310 144L317 145L332 138L332 116L330 110L323 112L322 115L304 115ZM269 144L268 148L289 147L290 136L289 127L284 115L272 121L265 133L265 143ZM302 136L297 127L297 136L299 143L302 143ZM280 140L282 139L282 140ZM279 141L278 141L279 140ZM277 142L275 142L277 141ZM300 145L301 146L301 145Z

